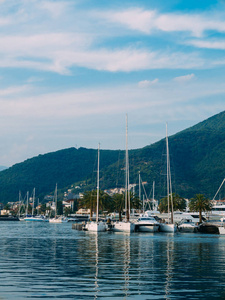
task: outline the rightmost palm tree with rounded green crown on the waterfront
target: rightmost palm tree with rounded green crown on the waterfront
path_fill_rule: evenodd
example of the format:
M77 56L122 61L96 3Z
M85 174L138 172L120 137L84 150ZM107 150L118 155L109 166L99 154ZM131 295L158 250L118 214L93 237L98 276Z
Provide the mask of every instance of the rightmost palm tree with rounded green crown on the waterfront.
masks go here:
M199 222L202 223L202 212L211 210L212 203L203 194L196 194L195 197L189 201L189 209L190 211L199 212Z

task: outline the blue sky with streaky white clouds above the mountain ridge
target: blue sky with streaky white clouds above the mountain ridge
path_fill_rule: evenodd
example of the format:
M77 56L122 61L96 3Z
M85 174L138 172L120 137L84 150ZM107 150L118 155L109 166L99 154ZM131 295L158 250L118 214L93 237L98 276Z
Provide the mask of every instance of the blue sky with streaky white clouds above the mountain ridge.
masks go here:
M0 0L0 165L136 149L225 109L225 1Z

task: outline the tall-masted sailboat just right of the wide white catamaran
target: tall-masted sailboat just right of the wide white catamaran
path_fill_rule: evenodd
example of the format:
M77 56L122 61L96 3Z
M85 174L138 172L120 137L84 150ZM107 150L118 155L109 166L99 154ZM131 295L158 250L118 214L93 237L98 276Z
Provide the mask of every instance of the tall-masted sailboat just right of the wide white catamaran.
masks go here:
M172 195L172 183L170 172L170 156L169 156L169 143L168 132L166 124L166 160L167 160L167 201L168 201L168 222L160 223L160 231L162 232L176 232L177 226L173 222L173 195ZM170 216L170 199L171 199L171 216Z

